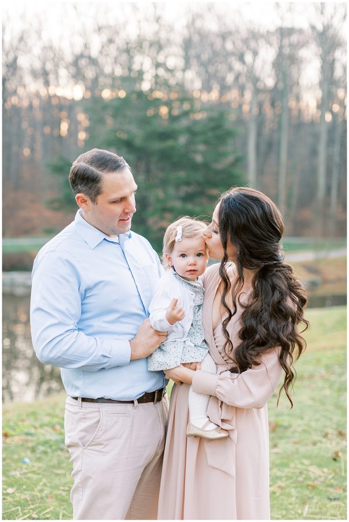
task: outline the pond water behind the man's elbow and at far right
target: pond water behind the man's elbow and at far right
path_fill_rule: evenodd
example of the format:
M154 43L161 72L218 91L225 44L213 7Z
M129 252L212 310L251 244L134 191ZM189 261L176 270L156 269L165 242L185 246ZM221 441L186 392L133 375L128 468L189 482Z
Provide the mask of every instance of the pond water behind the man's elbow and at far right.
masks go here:
M64 390L59 368L42 364L32 347L30 295L3 294L3 401L30 402ZM24 294L24 295L23 295ZM346 296L310 298L310 307L346 304Z

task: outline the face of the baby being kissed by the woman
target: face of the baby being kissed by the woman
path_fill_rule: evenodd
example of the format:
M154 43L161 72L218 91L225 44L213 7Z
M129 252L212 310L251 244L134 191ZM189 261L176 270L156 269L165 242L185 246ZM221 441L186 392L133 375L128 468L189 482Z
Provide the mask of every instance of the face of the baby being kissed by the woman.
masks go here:
M204 237L183 238L182 241L177 241L171 255L166 254L166 259L178 276L195 281L203 274L208 262Z

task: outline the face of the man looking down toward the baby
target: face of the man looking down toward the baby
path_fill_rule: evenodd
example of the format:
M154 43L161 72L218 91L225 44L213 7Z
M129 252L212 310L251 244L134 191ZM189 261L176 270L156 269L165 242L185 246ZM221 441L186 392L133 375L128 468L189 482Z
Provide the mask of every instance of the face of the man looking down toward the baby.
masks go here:
M129 169L102 175L102 193L93 204L85 196L83 218L106 235L124 234L131 228L132 216L136 212L135 193L137 185ZM78 201L78 199L77 199Z

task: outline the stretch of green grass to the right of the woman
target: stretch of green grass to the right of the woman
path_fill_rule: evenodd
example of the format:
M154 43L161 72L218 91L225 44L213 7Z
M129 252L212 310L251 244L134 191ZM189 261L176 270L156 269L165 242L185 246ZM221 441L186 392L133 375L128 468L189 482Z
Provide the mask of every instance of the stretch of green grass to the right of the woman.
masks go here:
M271 517L346 520L346 307L307 316L294 407L269 402Z

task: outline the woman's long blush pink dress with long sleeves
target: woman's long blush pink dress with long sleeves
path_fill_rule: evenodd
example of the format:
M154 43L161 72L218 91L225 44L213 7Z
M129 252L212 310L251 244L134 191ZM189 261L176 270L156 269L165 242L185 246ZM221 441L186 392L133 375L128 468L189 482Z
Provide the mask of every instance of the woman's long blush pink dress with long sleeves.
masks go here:
M188 438L189 385L174 385L160 487L158 519L269 520L269 430L267 402L283 370L278 347L261 364L237 375L224 350L221 321L213 330L212 304L220 283L219 264L203 276L202 323L216 375L196 371L195 392L211 395L208 416L229 437ZM242 297L248 300L248 294ZM233 347L239 343L241 306L228 325Z

